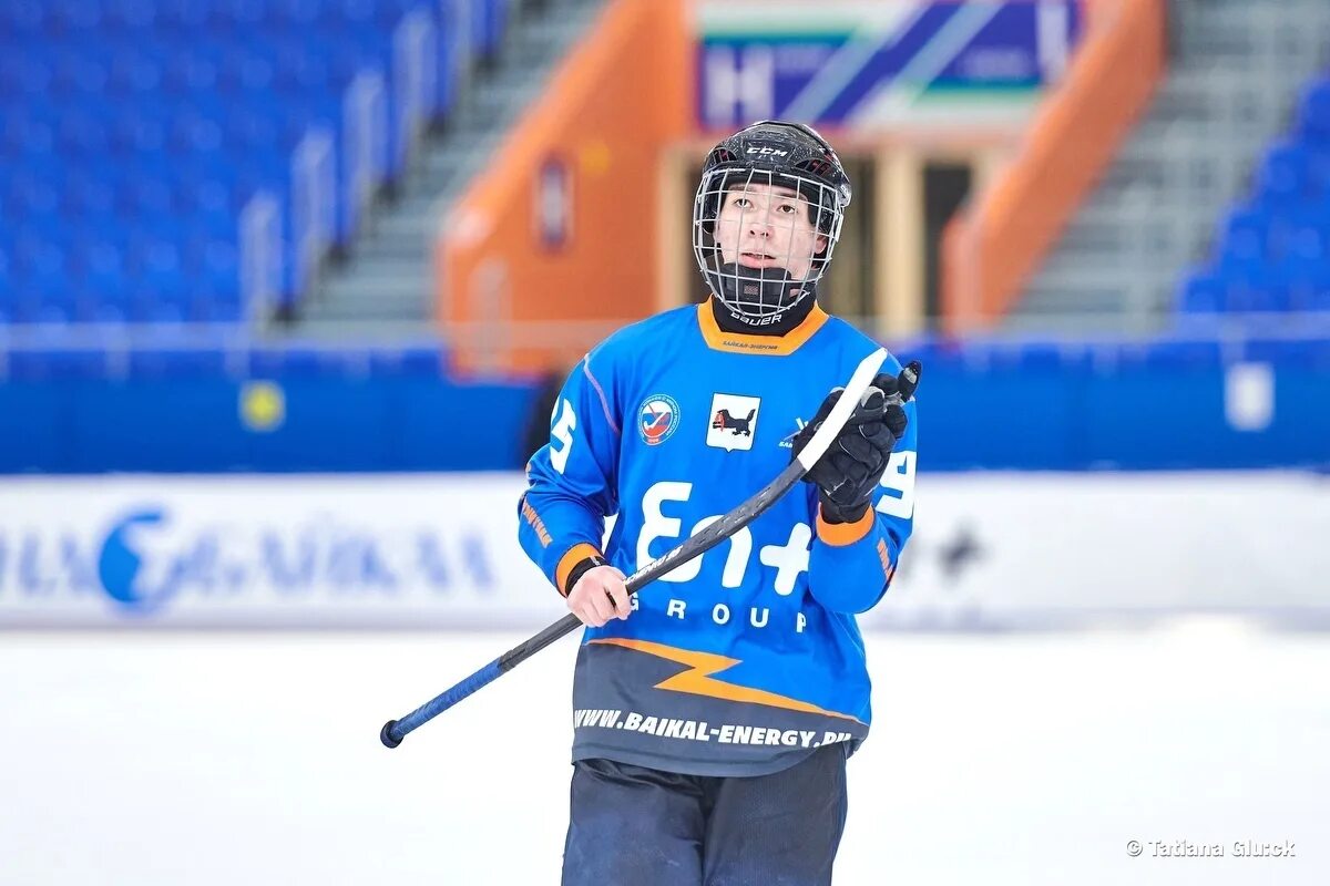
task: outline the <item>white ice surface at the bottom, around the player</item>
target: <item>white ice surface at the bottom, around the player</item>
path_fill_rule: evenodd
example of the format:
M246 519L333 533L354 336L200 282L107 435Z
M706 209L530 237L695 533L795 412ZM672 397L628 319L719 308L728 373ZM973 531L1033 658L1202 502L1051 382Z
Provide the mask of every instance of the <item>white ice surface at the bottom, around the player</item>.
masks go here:
M572 640L378 741L520 639L0 634L0 883L556 883ZM870 662L837 883L1330 882L1330 638L875 634ZM1153 857L1180 840L1226 854Z

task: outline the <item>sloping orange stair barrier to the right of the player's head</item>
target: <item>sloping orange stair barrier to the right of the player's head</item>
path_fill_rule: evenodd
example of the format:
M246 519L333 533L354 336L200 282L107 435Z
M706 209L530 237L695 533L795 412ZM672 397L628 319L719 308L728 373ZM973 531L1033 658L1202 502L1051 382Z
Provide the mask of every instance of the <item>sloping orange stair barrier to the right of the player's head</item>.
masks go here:
M1165 68L1165 0L1096 0L1067 78L1043 102L1015 161L943 232L948 332L1015 304L1149 105Z

